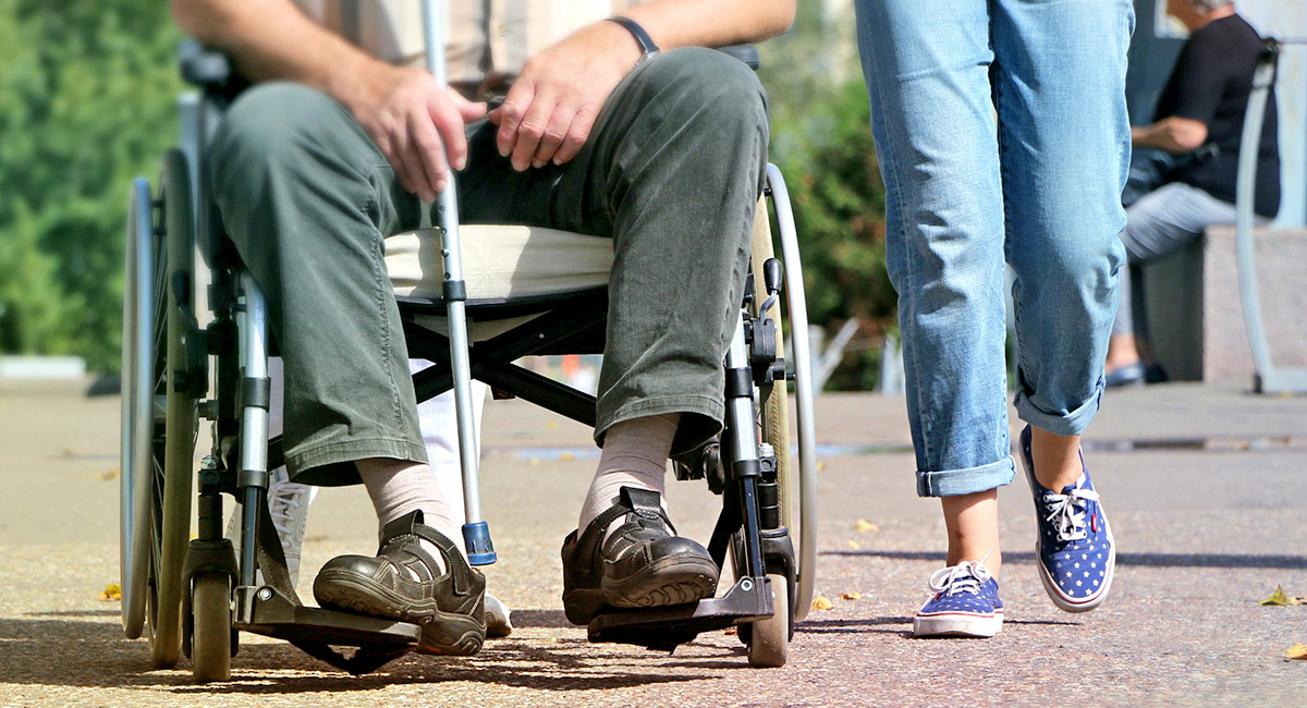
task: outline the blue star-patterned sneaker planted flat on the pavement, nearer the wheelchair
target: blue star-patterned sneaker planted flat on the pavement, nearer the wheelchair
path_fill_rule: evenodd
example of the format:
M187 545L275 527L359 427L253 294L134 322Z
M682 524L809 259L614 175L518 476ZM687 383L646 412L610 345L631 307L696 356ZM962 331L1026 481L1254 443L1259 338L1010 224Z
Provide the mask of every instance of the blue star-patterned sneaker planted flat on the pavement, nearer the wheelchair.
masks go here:
M976 560L935 571L931 600L912 618L912 636L987 637L1002 630L999 581Z

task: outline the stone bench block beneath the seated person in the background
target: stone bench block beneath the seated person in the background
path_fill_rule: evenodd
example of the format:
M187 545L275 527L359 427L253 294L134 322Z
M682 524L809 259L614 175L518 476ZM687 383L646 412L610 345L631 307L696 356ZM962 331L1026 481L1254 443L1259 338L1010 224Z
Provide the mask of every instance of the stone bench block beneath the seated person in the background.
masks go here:
M1276 367L1307 367L1307 229L1253 233L1263 327ZM1142 266L1146 332L1171 380L1252 388L1234 226Z

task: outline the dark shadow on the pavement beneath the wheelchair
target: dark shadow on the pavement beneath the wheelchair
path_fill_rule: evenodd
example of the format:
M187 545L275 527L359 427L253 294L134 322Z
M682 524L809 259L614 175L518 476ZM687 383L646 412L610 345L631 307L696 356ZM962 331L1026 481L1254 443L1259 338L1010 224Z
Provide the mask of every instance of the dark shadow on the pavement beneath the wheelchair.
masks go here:
M518 613L514 613L518 617ZM553 626L554 611L532 610ZM561 618L562 613L557 613ZM691 643L693 656L668 662L664 652L633 653L629 647L591 644L576 637L507 637L490 640L474 658L405 656L382 670L352 677L280 641L242 644L233 658L233 678L196 686L183 657L176 669L152 670L149 644L129 640L116 610L33 613L0 618L0 682L10 684L141 688L178 695L307 694L370 691L389 684L471 682L519 688L572 691L622 688L720 678L723 669L749 669L744 648ZM85 618L85 619L77 619ZM566 622L566 620L563 620ZM242 635L244 639L248 635ZM682 649L684 651L684 649Z

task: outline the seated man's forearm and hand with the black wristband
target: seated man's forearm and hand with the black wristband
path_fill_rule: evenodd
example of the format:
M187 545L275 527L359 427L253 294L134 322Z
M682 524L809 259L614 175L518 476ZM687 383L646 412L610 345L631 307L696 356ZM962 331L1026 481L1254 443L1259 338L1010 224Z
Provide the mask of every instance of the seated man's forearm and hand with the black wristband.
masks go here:
M795 0L656 0L625 16L663 51L721 47L784 33L795 18ZM606 21L532 56L503 106L490 114L499 125L499 153L511 157L516 170L576 157L608 95L639 57L631 34Z

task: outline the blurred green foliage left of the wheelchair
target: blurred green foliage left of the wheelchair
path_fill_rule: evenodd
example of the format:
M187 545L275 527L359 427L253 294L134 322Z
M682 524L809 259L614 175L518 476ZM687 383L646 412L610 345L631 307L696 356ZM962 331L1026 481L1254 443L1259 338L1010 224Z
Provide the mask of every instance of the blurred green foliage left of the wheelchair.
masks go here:
M0 3L0 351L116 371L127 188L175 141L157 0Z

